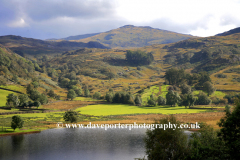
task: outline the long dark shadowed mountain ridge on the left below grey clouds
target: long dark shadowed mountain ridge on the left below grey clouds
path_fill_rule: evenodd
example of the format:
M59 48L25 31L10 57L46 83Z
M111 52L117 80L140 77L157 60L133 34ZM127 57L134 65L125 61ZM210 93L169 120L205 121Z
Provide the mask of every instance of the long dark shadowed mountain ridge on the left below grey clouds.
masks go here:
M0 36L0 44L10 48L19 55L36 55L48 53L62 53L63 51L76 50L80 48L108 48L99 42L89 41L70 42L70 41L43 41L33 38L8 35Z

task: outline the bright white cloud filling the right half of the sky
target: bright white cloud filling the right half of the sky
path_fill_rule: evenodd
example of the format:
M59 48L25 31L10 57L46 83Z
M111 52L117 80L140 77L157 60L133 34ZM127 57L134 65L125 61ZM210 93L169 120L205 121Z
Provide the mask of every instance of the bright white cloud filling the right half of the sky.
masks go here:
M240 25L237 0L121 0L118 5L118 16L133 24L196 36L212 36Z

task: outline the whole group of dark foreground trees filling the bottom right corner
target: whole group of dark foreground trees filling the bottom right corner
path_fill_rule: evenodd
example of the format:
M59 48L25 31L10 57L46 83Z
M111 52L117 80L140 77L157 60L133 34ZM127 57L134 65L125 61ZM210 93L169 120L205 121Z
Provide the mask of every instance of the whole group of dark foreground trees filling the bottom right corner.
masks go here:
M156 128L148 130L145 138L146 154L149 160L176 159L240 159L240 103L231 112L226 106L226 116L219 122L220 130L201 124L199 132L189 139L183 129ZM169 116L157 124L177 124L174 116Z

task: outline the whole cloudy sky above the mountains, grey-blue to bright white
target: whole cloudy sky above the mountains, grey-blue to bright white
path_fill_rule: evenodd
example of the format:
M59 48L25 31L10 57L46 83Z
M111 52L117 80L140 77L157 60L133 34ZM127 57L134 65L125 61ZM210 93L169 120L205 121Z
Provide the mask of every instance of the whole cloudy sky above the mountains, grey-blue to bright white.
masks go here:
M212 36L240 27L240 0L0 0L0 35L65 38L129 24Z

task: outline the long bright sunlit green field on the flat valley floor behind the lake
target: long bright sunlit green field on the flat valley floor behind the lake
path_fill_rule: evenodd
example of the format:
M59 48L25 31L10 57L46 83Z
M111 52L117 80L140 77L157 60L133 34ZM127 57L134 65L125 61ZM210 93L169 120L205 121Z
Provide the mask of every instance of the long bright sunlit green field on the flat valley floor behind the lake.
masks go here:
M108 115L129 115L129 114L180 114L180 113L199 113L205 112L206 109L186 109L185 107L138 107L122 104L99 104L88 105L86 107L78 108L76 111L81 111L81 114L94 116L108 116Z

